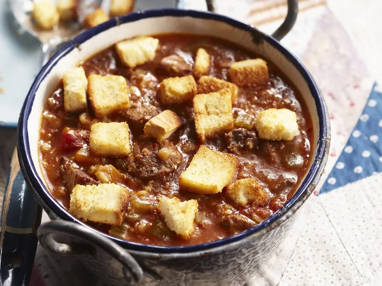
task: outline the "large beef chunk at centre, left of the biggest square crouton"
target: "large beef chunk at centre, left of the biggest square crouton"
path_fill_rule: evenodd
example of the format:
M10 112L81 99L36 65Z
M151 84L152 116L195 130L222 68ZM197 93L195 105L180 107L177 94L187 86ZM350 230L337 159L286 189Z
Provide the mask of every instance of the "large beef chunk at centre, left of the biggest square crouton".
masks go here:
M160 150L164 147L170 150L170 152L166 152L168 157L166 154L161 154L163 152ZM160 152L159 156L158 152ZM161 145L159 148L142 148L142 150L135 144L133 154L128 159L128 168L130 173L143 180L162 179L165 175L173 173L181 162L181 153L176 147L168 143Z

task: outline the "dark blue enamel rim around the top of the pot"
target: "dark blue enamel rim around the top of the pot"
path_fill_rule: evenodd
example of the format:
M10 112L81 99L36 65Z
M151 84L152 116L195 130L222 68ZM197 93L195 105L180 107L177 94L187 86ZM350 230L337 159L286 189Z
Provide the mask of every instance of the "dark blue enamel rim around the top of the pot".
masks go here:
M315 158L313 159L312 166L305 177L304 181L301 183L300 188L297 190L295 195L288 200L277 212L269 216L260 224L247 229L244 232L239 234L229 236L216 241L195 244L195 245L185 245L185 246L157 246L157 245L148 245L136 242L130 242L122 240L108 234L105 234L97 229L91 228L82 221L76 219L65 208L60 205L50 194L49 190L45 186L43 179L39 177L36 168L33 164L29 139L28 139L28 118L31 113L33 102L35 99L35 93L40 86L42 80L49 74L51 69L57 64L57 62L66 56L73 49L77 48L80 44L86 42L88 39L92 38L95 35L98 35L110 28L115 26L135 22L141 19L146 18L159 18L159 17L192 17L197 19L210 19L219 22L224 22L235 28L241 29L243 31L249 32L254 42L266 41L273 47L275 47L279 52L281 52L285 58L287 58L301 73L307 82L310 91L314 97L317 113L319 117L319 140L318 140L318 149ZM114 242L118 243L122 247L128 250L135 251L145 251L149 253L190 253L202 250L213 249L228 245L234 242L238 242L252 234L255 234L259 231L267 231L276 226L278 226L283 220L287 213L297 211L301 204L311 195L314 190L314 187L317 185L322 173L324 166L326 164L329 152L330 145L330 126L328 113L325 106L324 98L314 82L312 76L308 70L303 66L303 64L287 49L285 49L280 43L275 40L273 37L263 34L262 32L256 30L255 28L248 26L242 22L233 20L231 18L218 15L211 12L202 12L202 11L193 11L193 10L179 10L179 9L161 9L161 10L149 10L144 12L136 12L129 15L122 16L120 18L114 18L105 22L97 27L89 29L82 34L78 35L66 45L64 45L60 50L58 50L48 61L48 63L41 69L37 75L35 81L33 82L31 89L28 92L27 98L24 102L24 105L21 110L19 126L18 126L18 152L20 165L26 179L26 182L31 187L34 192L37 202L47 211L48 215L53 219L63 219L67 221L74 221L80 223L88 228L91 228L93 231L101 233ZM279 222L277 224L277 222Z

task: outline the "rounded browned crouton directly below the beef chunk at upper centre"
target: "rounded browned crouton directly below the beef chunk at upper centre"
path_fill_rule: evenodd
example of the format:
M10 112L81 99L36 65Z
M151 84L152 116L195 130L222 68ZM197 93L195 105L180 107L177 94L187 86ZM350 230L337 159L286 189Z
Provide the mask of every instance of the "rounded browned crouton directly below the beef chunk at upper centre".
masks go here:
M163 104L183 103L193 100L197 83L192 75L170 77L160 84L159 98Z

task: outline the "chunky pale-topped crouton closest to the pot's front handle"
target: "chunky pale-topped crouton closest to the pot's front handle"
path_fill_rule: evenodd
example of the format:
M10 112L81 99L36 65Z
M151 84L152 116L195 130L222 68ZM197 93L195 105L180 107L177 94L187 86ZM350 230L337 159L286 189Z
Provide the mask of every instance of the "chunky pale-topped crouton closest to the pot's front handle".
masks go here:
M70 195L69 212L83 221L120 225L128 197L128 189L116 184L76 185Z

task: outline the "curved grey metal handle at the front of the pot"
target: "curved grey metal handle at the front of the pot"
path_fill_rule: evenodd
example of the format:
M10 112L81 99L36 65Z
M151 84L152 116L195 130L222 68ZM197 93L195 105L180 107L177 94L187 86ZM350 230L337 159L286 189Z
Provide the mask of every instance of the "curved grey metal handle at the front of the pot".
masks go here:
M63 236L65 243L56 241L55 237ZM98 250L102 249L120 262L128 285L138 285L142 281L143 270L133 256L111 239L78 223L63 220L46 222L37 230L37 237L46 250L59 255L95 259Z

